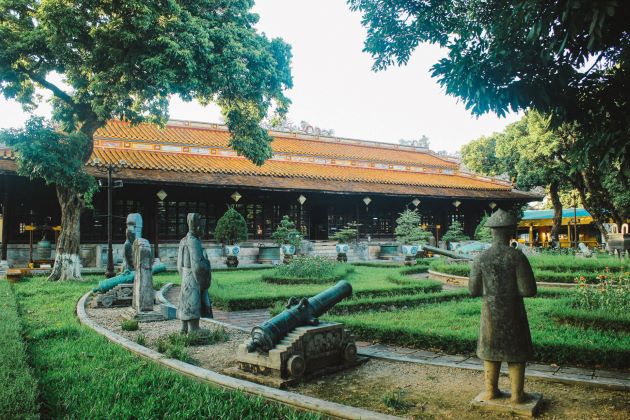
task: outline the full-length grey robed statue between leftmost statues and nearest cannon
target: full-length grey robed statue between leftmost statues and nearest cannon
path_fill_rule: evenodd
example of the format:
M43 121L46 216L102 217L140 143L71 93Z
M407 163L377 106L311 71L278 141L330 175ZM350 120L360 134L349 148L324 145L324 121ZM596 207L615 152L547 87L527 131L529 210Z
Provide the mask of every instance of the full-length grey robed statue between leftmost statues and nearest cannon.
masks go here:
M208 296L211 273L210 261L201 246L201 216L188 213L188 234L179 242L177 271L182 278L177 318L182 321L182 333L199 329L199 318L212 318L212 303Z

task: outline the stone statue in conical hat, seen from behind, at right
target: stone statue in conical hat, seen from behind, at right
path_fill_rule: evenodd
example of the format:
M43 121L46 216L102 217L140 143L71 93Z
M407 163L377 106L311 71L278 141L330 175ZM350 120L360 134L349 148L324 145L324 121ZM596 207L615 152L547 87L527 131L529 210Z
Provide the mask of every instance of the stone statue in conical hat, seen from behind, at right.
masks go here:
M509 246L517 220L497 210L486 222L492 246L473 261L469 289L483 296L477 356L484 361L485 399L501 397L498 388L501 362L507 362L512 384L511 402L525 399L525 362L533 357L523 297L536 295L536 281L529 261Z

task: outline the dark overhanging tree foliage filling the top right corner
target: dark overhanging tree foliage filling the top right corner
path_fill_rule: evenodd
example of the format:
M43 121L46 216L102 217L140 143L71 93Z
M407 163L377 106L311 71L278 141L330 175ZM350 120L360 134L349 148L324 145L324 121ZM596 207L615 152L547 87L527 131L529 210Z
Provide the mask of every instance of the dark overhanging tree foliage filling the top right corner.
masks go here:
M630 8L617 0L348 0L368 29L374 69L406 64L424 42L432 68L474 114L529 108L578 122L576 150L630 177Z

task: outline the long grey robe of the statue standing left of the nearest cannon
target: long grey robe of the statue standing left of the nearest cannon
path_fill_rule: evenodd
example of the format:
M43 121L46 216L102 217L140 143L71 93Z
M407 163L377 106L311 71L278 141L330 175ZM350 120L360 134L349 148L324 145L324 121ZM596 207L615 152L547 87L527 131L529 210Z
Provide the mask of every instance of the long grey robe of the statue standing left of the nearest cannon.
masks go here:
M182 321L199 319L210 305L210 261L201 241L190 232L179 242L177 271L182 279L177 318Z

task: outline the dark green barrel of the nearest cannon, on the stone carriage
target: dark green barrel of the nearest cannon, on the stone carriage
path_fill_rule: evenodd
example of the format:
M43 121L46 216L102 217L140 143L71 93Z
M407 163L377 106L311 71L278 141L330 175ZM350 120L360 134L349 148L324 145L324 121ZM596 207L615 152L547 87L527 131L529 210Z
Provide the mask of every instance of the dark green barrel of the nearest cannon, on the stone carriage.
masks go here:
M317 317L350 295L352 286L346 280L341 280L310 299L303 298L299 301L296 298L289 299L285 311L252 329L247 351L251 353L260 349L268 352L295 328L317 325L319 323Z

